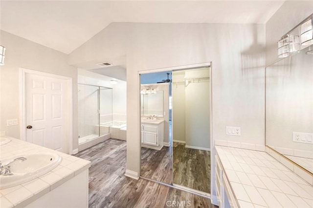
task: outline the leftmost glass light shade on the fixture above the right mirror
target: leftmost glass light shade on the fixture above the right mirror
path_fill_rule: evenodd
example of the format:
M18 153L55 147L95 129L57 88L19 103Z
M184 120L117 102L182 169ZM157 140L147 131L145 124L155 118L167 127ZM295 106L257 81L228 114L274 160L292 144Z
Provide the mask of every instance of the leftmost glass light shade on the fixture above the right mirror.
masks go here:
M289 57L299 52L299 36L287 36L278 41L278 57Z

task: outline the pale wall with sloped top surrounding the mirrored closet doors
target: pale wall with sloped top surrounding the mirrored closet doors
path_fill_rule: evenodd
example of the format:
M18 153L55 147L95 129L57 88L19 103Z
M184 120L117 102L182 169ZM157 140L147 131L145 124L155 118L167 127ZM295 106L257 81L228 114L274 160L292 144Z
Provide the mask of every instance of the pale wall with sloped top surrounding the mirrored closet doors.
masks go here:
M212 61L213 139L264 145L264 49L263 24L112 23L69 61L127 55L126 169L139 173L138 72ZM226 135L226 126L241 127L241 136Z

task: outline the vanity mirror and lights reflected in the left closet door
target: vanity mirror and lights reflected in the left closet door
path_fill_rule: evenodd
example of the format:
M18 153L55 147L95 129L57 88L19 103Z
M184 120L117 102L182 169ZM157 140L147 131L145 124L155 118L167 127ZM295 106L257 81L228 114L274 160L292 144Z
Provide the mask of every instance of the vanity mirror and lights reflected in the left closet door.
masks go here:
M145 87L146 86L146 87ZM141 85L141 115L163 117L163 91Z

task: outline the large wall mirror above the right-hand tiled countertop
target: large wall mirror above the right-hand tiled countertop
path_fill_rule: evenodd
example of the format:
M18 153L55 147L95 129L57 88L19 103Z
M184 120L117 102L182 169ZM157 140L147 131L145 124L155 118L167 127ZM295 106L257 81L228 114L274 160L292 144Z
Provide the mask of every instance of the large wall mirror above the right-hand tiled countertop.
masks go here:
M313 175L313 55L266 68L266 145Z

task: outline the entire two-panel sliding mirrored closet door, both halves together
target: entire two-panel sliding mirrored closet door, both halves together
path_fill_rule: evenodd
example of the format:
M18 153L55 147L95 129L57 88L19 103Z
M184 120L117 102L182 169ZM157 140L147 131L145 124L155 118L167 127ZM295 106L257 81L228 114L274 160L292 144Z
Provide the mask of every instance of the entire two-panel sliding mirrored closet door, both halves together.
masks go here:
M140 80L141 177L209 196L210 66Z

